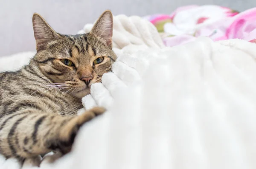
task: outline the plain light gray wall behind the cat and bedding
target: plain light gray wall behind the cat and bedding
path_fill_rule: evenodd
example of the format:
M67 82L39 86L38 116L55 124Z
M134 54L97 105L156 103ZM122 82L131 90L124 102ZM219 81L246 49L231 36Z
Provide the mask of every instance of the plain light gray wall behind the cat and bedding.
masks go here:
M35 51L32 14L41 14L55 31L76 34L105 9L114 15L170 14L184 5L215 4L239 11L256 7L256 0L0 0L0 56Z

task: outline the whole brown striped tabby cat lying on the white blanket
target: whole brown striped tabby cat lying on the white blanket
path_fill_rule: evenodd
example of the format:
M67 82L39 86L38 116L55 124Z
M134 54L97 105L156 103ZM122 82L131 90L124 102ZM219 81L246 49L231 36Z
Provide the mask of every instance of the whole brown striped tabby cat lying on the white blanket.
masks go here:
M0 73L0 154L19 160L70 152L79 127L105 112L77 115L81 98L116 60L109 10L87 34L56 33L37 13L32 23L37 53L20 70Z

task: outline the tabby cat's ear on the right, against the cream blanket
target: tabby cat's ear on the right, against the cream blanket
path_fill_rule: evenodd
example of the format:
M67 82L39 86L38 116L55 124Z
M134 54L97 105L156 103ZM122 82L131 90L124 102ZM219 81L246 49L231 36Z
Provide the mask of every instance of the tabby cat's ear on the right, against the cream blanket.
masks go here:
M101 38L105 45L112 48L113 15L111 11L107 10L102 13L94 24L90 34Z

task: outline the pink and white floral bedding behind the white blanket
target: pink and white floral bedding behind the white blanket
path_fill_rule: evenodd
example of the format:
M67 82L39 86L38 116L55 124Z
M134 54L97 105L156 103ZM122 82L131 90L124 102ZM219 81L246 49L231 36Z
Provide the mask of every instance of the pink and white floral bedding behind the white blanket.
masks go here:
M172 14L145 17L153 23L166 46L207 36L214 41L244 39L256 43L256 8L239 13L222 6L183 6Z

